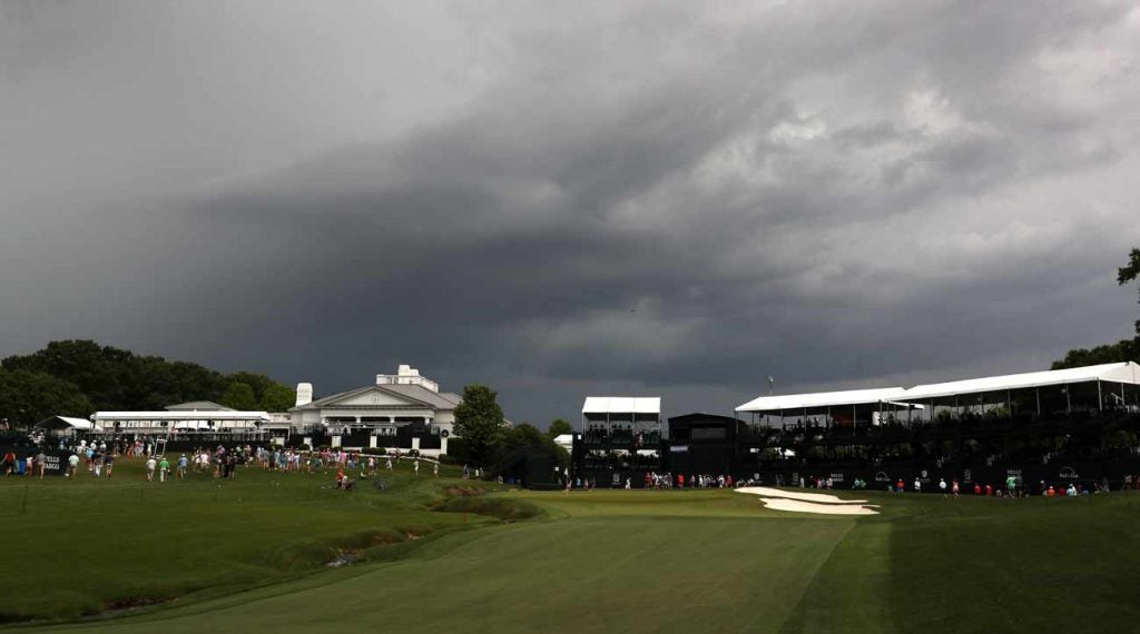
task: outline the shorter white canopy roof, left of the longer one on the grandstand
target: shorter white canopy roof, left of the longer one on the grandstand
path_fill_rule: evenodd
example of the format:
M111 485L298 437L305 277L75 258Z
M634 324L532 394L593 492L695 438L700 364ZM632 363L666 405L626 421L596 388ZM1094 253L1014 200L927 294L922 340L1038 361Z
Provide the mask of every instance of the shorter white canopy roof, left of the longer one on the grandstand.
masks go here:
M883 412L895 412L899 409L921 406L902 401L906 389L902 387L882 387L877 389L850 389L845 392L816 392L807 394L788 394L780 396L760 396L736 407L738 413L768 417L785 417L813 419L823 417L832 420L858 425L861 417L864 422L877 421Z

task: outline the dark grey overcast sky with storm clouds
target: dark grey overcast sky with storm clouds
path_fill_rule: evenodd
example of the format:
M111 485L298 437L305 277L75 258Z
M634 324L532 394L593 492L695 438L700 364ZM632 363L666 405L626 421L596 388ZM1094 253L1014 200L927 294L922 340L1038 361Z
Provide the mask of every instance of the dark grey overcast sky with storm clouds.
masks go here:
M1133 2L0 3L0 355L318 395L1048 368L1131 332Z

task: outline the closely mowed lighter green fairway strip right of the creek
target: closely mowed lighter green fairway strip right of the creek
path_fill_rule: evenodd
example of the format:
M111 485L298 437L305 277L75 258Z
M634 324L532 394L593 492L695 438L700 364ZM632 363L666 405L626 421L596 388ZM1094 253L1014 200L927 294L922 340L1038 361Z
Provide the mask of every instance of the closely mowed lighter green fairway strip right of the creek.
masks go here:
M207 602L185 616L176 609L82 628L774 632L850 521L625 517L513 525L477 538L443 537L408 560L329 577L319 587L303 583L212 611Z

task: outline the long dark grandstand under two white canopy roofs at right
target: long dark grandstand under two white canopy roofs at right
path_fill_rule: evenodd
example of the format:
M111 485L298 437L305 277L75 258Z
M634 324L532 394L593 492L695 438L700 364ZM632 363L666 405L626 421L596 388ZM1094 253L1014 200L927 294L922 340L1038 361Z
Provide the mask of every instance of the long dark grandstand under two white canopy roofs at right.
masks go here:
M738 452L771 481L914 479L964 485L1140 472L1140 367L1110 363L912 388L763 396ZM839 484L842 486L842 484Z

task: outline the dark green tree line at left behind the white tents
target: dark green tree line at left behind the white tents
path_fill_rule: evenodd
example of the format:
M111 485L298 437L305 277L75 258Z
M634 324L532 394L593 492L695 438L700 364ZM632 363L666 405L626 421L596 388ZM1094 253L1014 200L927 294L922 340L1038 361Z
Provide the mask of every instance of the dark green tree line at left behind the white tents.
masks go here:
M152 411L188 401L283 412L294 405L296 394L266 374L225 374L91 340L51 341L32 354L0 361L0 418L14 427L51 415Z

